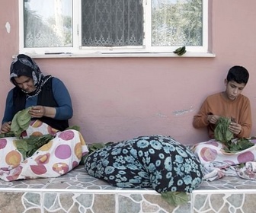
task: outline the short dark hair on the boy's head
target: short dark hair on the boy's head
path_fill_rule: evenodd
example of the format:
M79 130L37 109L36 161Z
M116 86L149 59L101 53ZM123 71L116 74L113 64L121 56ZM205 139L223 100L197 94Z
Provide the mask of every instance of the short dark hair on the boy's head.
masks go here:
M247 84L249 79L249 73L246 68L242 66L235 65L229 69L227 75L227 81L235 81L238 84Z

